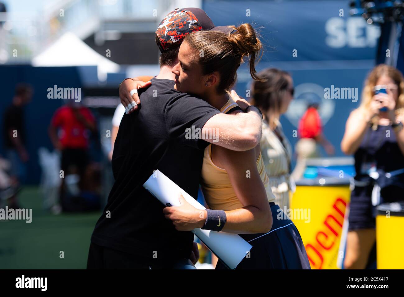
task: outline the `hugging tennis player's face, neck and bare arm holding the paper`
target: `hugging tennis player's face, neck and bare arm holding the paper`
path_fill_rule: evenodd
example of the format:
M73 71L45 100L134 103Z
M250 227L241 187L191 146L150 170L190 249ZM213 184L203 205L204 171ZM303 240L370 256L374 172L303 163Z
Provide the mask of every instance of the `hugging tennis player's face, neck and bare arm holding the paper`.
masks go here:
M202 68L196 58L198 53L186 41L181 44L179 63L173 68L176 88L181 92L196 94L220 109L228 100L227 94L217 93L216 86L220 80L217 72L202 75ZM231 93L232 96L234 94ZM236 152L212 145L212 150L213 162L227 171L231 185L243 205L242 208L225 212L227 221L222 231L238 234L269 232L272 214L257 170L259 146L245 152ZM246 177L247 170L250 170L249 178ZM165 217L172 220L179 231L201 228L206 221L206 210L194 208L182 196L179 201L181 206L164 208Z

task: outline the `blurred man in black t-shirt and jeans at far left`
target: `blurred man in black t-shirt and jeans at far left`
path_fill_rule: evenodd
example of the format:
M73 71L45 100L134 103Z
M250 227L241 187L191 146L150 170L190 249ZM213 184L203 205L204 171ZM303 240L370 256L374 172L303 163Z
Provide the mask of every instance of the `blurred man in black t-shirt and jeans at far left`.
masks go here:
M25 123L23 106L32 99L32 88L19 83L15 87L13 102L4 112L4 144L6 146L6 156L11 164L10 177L13 187L21 186L26 177L25 163L29 156L25 148ZM9 200L11 208L20 208L17 197Z

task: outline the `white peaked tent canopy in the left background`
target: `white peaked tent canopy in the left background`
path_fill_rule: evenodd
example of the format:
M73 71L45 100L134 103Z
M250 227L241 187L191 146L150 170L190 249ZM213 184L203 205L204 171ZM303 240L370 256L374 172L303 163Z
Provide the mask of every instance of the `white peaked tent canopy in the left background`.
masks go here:
M119 71L119 64L101 56L73 33L63 34L44 52L32 59L33 66L97 66L98 79Z

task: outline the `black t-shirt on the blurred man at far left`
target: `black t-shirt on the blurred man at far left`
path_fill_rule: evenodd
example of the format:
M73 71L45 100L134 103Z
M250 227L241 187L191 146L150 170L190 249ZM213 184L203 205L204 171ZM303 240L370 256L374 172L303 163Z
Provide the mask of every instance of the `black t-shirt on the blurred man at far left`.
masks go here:
M15 106L14 104L8 106L6 112L4 112L4 144L8 148L14 148L15 145L11 141L11 137L8 134L10 129L17 131L17 137L21 143L25 143L25 129L24 129L24 112L21 106Z

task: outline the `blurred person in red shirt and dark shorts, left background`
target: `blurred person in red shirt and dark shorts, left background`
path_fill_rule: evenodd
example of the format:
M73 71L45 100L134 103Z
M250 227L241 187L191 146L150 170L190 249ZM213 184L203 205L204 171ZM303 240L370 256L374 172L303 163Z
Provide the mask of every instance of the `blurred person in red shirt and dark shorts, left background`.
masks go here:
M90 182L89 138L90 132L95 133L97 129L95 118L88 108L73 99L66 101L67 104L58 108L53 115L49 136L55 149L61 151L64 178L60 189L60 203L63 210L71 210L72 201L69 197L79 196L80 191Z

